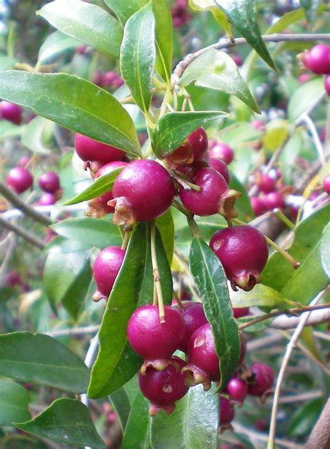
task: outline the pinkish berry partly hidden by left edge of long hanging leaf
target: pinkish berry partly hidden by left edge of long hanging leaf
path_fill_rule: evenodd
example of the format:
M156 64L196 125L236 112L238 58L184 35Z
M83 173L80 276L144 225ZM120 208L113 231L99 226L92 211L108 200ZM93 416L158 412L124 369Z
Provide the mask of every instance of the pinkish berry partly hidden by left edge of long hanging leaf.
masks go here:
M124 255L125 251L120 246L108 246L97 255L93 265L93 276L97 287L93 301L108 299Z

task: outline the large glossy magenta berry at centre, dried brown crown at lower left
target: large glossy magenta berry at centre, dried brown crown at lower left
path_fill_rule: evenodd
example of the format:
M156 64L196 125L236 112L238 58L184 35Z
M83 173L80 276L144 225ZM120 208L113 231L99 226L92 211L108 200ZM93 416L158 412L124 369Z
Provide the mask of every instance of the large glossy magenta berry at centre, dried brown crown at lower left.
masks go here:
M157 218L171 206L174 184L168 171L155 161L136 160L125 166L113 184L114 223L132 225L135 221Z

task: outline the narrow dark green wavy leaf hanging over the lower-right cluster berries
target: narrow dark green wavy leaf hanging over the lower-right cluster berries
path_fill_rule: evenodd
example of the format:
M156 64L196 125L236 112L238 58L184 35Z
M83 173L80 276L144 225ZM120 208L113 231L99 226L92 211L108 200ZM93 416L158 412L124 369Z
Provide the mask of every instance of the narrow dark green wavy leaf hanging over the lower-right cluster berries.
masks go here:
M226 274L217 255L196 238L191 244L189 267L212 327L219 356L221 390L236 370L240 352L239 331L230 305Z

